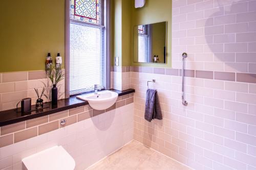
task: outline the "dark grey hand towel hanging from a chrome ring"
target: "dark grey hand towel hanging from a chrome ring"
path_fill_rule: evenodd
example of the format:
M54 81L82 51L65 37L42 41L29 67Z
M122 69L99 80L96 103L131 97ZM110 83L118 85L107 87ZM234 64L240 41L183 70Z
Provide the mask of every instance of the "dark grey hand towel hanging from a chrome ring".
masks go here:
M146 91L146 105L144 118L151 122L152 119L163 119L157 90L147 89Z

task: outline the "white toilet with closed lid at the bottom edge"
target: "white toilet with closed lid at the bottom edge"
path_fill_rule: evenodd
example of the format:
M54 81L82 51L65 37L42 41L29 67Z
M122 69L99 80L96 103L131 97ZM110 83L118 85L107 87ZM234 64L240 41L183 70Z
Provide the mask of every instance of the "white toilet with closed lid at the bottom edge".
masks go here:
M75 161L61 146L28 156L22 160L23 170L74 170Z

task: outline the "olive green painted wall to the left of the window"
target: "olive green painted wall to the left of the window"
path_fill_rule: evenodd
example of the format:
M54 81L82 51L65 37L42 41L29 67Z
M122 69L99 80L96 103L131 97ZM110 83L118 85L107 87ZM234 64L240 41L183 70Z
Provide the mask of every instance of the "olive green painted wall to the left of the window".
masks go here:
M0 72L43 70L65 57L65 0L1 1Z

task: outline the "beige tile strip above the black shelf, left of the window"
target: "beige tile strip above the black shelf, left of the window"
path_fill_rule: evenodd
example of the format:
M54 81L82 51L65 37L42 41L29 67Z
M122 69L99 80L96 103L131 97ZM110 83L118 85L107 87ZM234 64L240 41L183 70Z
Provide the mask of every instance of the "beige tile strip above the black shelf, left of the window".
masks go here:
M42 88L47 87L42 99L44 102L50 101L51 81L46 78L45 71L5 72L0 73L0 79L0 111L16 108L17 103L24 98L32 98L31 104L35 105L37 95L34 88L41 92ZM57 88L58 99L64 99L64 79Z

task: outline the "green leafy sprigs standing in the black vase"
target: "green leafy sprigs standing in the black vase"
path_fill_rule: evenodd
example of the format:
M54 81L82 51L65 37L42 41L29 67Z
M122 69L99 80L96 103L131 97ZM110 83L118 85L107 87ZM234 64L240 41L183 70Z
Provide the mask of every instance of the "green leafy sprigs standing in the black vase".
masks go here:
M55 85L65 77L65 74L62 74L62 69L56 69L55 66L51 66L46 75L51 80L52 84Z

